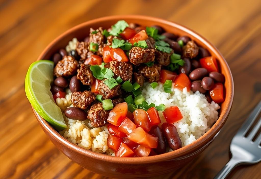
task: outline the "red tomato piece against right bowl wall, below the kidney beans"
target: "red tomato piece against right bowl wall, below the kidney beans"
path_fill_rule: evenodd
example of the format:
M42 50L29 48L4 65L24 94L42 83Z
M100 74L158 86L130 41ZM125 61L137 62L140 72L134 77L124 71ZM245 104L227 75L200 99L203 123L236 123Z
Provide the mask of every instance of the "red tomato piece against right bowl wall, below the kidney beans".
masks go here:
M210 97L212 98L215 103L222 103L224 102L224 86L222 83L216 83L212 87L212 89L209 90Z

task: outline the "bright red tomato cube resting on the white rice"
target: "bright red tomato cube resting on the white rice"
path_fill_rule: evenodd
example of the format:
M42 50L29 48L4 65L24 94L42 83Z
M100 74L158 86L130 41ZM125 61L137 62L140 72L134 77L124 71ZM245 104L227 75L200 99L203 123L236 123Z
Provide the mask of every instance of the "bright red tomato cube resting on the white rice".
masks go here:
M163 111L163 116L165 117L167 123L169 123L169 124L175 123L183 118L183 116L179 110L179 107L177 107L177 106L167 107Z

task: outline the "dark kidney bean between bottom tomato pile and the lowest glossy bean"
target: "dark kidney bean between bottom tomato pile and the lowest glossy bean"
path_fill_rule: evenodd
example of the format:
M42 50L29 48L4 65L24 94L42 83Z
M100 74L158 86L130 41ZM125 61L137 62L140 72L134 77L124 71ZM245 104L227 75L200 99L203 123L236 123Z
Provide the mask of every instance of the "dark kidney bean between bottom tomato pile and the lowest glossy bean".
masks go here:
M158 146L155 150L158 154L164 154L166 152L166 141L162 135L161 129L159 126L151 127L150 134L158 137Z

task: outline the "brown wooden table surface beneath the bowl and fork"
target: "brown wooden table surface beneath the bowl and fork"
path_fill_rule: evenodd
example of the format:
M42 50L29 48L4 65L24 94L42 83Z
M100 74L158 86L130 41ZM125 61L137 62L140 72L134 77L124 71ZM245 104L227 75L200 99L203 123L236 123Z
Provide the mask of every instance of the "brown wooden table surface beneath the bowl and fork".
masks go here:
M261 1L0 0L0 178L105 178L81 168L45 136L25 96L28 66L58 35L108 15L165 18L202 34L227 59L235 96L220 135L194 161L162 178L213 178L229 160L232 137L261 99ZM261 163L229 178L261 178Z

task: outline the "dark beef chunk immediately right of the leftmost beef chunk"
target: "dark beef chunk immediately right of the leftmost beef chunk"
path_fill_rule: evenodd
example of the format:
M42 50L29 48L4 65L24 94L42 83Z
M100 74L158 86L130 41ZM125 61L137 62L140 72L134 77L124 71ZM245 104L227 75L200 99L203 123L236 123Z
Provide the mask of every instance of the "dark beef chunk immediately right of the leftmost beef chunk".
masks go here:
M90 70L90 65L81 64L80 69L77 70L77 79L81 80L84 85L93 84L95 78L92 75L92 71Z

